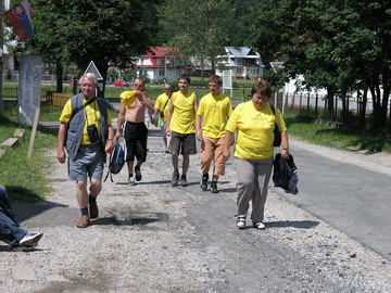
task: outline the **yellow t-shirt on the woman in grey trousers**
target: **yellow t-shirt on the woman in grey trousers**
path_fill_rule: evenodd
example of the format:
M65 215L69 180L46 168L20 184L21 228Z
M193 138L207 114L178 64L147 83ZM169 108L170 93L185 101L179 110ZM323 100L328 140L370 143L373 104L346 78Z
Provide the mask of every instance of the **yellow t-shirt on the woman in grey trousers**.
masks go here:
M226 130L238 132L235 144L235 156L244 160L265 160L274 156L274 128L287 127L281 113L275 107L276 116L269 104L257 110L252 101L239 104L229 117Z

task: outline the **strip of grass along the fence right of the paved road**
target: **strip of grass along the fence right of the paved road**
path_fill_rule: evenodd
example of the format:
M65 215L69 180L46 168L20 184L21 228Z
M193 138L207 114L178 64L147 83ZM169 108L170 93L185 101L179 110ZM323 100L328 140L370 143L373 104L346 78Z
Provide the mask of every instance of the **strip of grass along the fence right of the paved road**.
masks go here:
M285 115L283 118L290 136L310 143L349 151L391 152L391 139L386 135L355 133L293 115Z

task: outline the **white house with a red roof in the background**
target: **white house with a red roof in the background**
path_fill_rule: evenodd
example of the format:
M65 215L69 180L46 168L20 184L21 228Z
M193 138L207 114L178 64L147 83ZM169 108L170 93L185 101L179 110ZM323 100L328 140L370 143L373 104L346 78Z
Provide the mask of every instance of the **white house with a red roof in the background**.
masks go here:
M190 74L191 62L172 47L151 47L140 55L136 64L138 75L150 80L178 79L182 74Z

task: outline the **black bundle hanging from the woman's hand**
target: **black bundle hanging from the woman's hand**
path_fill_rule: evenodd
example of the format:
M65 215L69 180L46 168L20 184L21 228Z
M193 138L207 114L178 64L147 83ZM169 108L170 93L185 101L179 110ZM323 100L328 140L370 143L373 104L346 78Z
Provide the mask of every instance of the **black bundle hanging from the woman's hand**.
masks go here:
M293 162L293 156L290 155L285 160L280 153L276 154L274 160L273 182L275 187L282 188L286 192L298 194L298 168Z

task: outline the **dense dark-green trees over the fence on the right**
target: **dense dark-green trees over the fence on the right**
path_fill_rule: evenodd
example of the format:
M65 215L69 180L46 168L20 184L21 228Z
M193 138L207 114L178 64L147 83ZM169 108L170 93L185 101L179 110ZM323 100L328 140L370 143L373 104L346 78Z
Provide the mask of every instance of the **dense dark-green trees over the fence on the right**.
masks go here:
M264 58L282 54L288 75L302 74L307 87L328 90L330 118L336 94L345 115L346 93L369 89L374 128L380 129L386 126L391 86L390 5L381 0L265 0L249 20L252 29L258 29L254 42Z

